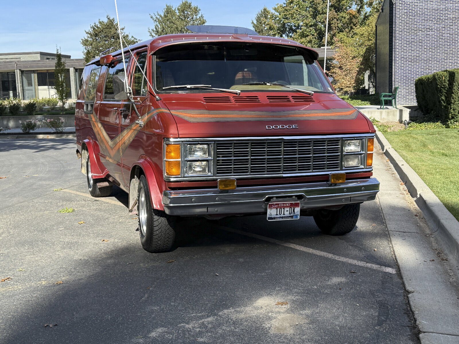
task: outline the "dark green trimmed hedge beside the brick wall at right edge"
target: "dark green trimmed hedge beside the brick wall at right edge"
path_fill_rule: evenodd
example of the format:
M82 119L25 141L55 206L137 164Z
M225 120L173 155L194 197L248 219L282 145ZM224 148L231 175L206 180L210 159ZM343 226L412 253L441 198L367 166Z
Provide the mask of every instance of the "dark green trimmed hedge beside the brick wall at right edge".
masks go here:
M414 87L421 111L441 122L459 121L459 69L417 78Z

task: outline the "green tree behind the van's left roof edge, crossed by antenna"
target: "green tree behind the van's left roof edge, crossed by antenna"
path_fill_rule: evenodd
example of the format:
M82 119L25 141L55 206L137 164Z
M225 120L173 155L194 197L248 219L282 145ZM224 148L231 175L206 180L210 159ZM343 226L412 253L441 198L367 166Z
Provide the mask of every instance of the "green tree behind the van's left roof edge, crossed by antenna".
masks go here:
M83 45L83 55L86 63L96 56L99 56L99 54L104 50L112 47L115 47L116 50L121 49L118 25L115 26L117 24L115 19L109 15L107 15L106 19L106 21L99 19L99 22L91 24L88 31L84 31L86 36L80 40L80 43ZM124 33L124 27L121 28L121 33L128 45L135 44L140 41L133 36L129 36L129 33Z

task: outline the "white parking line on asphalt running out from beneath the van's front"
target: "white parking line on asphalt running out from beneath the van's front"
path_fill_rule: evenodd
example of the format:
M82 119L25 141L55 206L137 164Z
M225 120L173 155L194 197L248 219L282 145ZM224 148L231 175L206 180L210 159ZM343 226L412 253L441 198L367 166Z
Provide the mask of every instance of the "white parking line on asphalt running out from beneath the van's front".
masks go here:
M233 228L223 227L223 226L218 226L218 227L222 228L222 229L224 229L225 231L228 231L228 232L233 232L233 233L237 233L237 234L241 234L241 235L246 235L248 237L252 237L252 238L260 239L260 240L264 240L264 241L269 241L270 243L273 243L273 244L278 244L278 245L290 247L292 249L300 250L300 251L303 251L303 252L312 253L313 255L321 255L322 257L334 259L336 261L343 261L343 262L349 263L349 264L369 267L370 269L375 269L375 270L382 271L382 272L397 273L397 271L395 269L392 269L392 267L365 263L364 261L355 261L355 260L350 259L350 258L340 257L339 255L332 255L331 253L322 252L322 251L318 251L318 250L313 250L313 249L310 249L308 247L304 247L304 246L300 246L300 245L296 245L296 244L286 243L284 241L280 241L280 240L276 240L276 239L272 239L272 238L268 238L268 237L263 237L262 235L258 235L258 234L243 232L243 231L240 231L238 229L233 229Z

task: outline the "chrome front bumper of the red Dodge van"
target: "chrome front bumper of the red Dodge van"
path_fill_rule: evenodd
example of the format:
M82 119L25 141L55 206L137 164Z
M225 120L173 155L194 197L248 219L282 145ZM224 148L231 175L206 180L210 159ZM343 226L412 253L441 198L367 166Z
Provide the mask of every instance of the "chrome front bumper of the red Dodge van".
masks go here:
M270 201L300 200L301 209L374 200L379 191L376 178L330 185L326 182L238 187L235 190L197 189L164 191L162 204L169 215L222 215L264 213Z

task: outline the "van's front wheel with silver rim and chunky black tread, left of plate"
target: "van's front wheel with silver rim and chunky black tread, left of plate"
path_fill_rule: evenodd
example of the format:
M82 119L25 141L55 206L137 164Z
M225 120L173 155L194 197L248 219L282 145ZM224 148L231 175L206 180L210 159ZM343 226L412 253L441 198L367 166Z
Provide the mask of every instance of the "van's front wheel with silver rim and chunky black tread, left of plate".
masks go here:
M144 250L159 253L174 247L177 218L151 206L150 189L145 176L140 176L137 189L137 217L140 243Z

